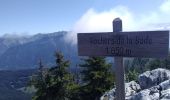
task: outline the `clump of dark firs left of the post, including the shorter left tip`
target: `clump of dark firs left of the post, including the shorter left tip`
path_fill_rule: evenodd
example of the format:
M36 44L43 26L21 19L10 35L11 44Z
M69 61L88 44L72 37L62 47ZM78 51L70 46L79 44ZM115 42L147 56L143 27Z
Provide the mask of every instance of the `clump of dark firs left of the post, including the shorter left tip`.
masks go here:
M38 74L33 78L32 85L37 89L33 100L68 100L72 99L78 87L68 71L70 65L61 52L55 54L56 65L44 70L40 62Z

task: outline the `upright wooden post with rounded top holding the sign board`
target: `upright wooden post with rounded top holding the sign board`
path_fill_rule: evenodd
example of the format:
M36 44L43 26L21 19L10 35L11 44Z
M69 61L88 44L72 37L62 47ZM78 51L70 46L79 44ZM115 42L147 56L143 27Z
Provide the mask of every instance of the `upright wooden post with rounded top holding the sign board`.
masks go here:
M122 20L116 18L113 20L113 32L120 31L122 31ZM125 100L123 57L115 57L114 63L116 74L116 100Z

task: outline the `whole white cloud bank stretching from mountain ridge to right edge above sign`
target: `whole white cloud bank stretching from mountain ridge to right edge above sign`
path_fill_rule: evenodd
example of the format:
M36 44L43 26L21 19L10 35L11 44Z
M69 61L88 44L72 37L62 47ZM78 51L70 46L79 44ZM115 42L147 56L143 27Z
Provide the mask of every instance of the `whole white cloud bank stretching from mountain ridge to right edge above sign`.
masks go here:
M113 19L119 17L123 22L123 31L170 29L170 0L164 1L155 11L136 15L125 6L97 12L90 8L74 24L72 32L66 36L68 42L77 43L77 33L111 32Z

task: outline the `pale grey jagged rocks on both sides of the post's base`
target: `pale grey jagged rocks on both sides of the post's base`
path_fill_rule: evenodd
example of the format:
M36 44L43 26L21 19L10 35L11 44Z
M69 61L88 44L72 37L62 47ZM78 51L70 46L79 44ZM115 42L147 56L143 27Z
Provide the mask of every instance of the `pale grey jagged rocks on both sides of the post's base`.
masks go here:
M138 84L139 83L139 84ZM138 83L125 83L126 100L170 100L170 71L158 68L139 75ZM115 89L101 100L114 100Z

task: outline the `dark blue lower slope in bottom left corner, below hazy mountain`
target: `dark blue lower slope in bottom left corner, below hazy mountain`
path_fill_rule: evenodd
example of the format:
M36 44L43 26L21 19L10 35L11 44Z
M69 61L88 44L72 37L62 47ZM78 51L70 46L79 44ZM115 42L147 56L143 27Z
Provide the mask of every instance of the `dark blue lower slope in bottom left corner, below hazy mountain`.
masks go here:
M0 71L0 100L31 100L31 94L18 89L28 85L36 70Z

